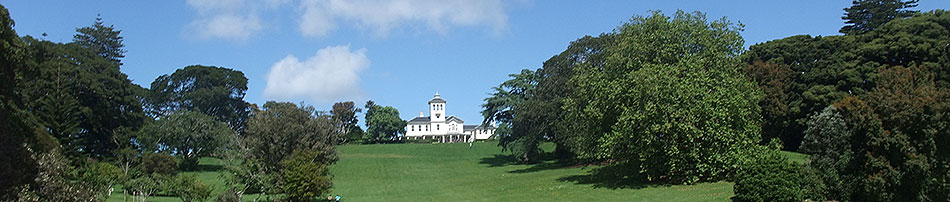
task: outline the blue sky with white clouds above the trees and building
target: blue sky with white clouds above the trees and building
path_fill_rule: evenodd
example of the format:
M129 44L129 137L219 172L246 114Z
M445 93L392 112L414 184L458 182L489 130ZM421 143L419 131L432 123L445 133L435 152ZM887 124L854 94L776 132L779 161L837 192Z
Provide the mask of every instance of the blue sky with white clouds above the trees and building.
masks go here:
M246 100L372 99L404 119L436 92L468 124L507 75L535 69L584 35L610 32L650 10L702 11L745 25L746 47L797 34L838 35L850 0L0 0L20 35L68 42L101 14L122 30L122 71L148 87L201 64L243 71ZM950 8L924 0L919 10ZM363 120L360 120L361 124Z

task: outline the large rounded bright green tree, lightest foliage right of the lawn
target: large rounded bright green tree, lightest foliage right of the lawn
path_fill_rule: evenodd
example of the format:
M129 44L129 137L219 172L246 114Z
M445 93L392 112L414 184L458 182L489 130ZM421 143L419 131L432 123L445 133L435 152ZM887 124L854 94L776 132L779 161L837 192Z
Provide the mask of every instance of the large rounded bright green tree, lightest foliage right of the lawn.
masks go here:
M759 141L761 95L739 74L741 28L699 12L654 12L617 28L604 68L578 68L564 108L578 154L638 165L646 180L719 180ZM583 117L583 118L581 118Z

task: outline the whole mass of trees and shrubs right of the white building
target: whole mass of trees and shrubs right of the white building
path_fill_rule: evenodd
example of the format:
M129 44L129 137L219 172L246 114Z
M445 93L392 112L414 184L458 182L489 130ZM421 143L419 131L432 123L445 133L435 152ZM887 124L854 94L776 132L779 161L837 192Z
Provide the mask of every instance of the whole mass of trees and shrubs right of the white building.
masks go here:
M844 35L748 50L725 18L635 16L511 74L482 114L522 162L606 164L628 183L729 180L738 201L950 200L950 15L916 3L854 1Z

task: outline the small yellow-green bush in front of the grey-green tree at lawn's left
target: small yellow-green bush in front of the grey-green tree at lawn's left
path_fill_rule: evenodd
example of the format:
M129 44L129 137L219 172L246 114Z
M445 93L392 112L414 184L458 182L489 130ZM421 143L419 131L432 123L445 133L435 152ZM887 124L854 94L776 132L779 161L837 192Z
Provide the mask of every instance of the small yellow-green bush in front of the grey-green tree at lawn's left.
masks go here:
M331 186L330 161L319 151L297 150L285 159L284 194L295 201L309 201L326 194Z

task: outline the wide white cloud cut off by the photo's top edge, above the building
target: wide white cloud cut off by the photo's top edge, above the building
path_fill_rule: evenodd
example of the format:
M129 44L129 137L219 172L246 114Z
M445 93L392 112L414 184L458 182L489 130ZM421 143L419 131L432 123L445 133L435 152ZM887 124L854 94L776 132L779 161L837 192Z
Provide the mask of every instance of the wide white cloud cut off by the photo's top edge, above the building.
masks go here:
M379 35L411 23L421 23L444 33L452 26L485 25L499 32L507 27L508 15L500 0L303 0L300 31L320 37L341 18L369 28Z

